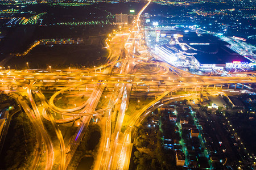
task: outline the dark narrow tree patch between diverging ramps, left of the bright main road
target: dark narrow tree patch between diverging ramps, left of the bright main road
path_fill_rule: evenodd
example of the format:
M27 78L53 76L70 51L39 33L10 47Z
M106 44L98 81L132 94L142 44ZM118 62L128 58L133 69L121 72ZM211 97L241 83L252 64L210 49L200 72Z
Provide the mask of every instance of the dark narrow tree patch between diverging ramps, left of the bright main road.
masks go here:
M80 160L85 155L93 156L94 160L96 159L96 154L98 150L98 142L100 142L100 137L98 136L100 133L101 137L101 129L98 125L89 125L88 130L86 131L84 138L82 139L79 147L71 160L71 163L68 166L68 169L77 169L77 166L80 163Z

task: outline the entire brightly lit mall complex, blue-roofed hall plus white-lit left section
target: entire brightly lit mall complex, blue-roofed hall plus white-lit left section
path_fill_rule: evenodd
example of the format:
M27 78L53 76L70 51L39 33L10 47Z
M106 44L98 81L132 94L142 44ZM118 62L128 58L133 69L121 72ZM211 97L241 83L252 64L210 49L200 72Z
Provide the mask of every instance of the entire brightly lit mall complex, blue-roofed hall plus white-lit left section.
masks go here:
M159 33L158 33L159 34ZM155 51L166 62L200 70L222 70L250 67L251 61L230 49L228 42L207 33L188 30L161 30L160 36L170 43L156 46Z

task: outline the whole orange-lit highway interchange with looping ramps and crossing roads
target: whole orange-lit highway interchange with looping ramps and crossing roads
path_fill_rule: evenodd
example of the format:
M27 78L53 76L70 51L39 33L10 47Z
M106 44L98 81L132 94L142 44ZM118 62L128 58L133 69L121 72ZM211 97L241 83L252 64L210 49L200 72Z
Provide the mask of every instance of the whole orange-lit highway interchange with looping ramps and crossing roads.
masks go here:
M109 37L106 44L110 50L109 63L88 70L2 70L0 90L16 97L36 130L38 150L32 164L33 169L40 163L42 145L46 149L46 167L52 169L55 163L59 169L67 169L75 154L85 131L93 117L101 121L102 136L94 169L128 169L131 155L131 135L133 127L138 125L149 111L159 107L164 101L176 101L192 97L191 95L172 95L177 90L203 92L208 87L223 92L229 86L250 88L256 82L254 76L199 76L176 68L168 63L153 61L150 52L143 43L143 28L140 16L151 1L139 11L130 29L120 31L118 35ZM145 52L138 54L137 49ZM123 50L125 54L123 54ZM119 67L117 65L119 64ZM246 73L245 73L246 74ZM254 74L254 73L250 73ZM231 85L230 85L231 84ZM48 87L48 88L46 88ZM54 88L53 88L54 87ZM222 89L223 88L223 89ZM102 94L108 89L108 105L97 109ZM44 95L51 92L48 100ZM55 105L56 98L65 94L84 94L88 98L73 108L60 108ZM155 100L134 113L129 126L122 131L123 119L129 105L131 95L139 93L155 96ZM28 101L22 98L26 94ZM36 97L35 97L36 96ZM35 100L40 101L39 102ZM39 109L40 107L40 109ZM43 109L42 109L43 107ZM63 118L56 119L54 114ZM117 120L112 121L112 114ZM59 141L59 148L53 142L43 118L51 122ZM76 133L65 143L58 124L80 119ZM114 128L113 128L114 127ZM60 150L60 158L55 155Z

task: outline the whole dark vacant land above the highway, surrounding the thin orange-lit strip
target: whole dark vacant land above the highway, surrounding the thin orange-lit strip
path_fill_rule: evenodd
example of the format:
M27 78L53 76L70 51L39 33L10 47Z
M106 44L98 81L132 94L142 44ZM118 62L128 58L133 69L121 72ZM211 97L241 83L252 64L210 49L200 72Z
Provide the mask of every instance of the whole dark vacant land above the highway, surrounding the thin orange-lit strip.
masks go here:
M83 42L81 44L38 45L26 56L11 58L5 66L10 66L11 69L27 69L27 62L30 69L46 69L48 66L63 69L102 65L107 62L108 56L108 50L104 48L105 39L113 29L115 27L112 25L36 27L33 35L26 40L26 45L20 46L16 52L23 52L28 48L28 42L40 39L80 38Z

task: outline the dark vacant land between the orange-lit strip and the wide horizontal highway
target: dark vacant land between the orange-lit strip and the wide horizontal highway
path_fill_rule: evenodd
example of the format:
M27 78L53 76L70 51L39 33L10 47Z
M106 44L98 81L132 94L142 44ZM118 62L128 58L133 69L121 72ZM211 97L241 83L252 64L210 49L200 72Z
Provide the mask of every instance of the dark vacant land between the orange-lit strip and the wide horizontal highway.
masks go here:
M99 39L99 38L97 38ZM92 39L93 41L93 39ZM67 67L92 67L105 63L108 51L100 45L56 45L36 46L26 56L13 57L6 66L15 69L27 69L26 62L29 62L30 69L45 69L52 66L54 69Z

